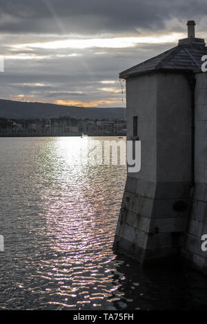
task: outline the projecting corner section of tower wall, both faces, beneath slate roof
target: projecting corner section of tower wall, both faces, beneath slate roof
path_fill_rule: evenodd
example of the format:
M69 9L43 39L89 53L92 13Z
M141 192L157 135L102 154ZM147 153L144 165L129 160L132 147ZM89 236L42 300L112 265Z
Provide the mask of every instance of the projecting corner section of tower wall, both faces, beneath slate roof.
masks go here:
M128 173L115 248L145 262L177 255L190 204L190 86L182 74L126 81L127 134L138 117L141 170Z

